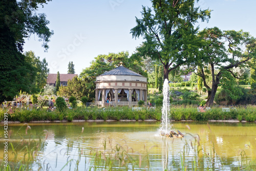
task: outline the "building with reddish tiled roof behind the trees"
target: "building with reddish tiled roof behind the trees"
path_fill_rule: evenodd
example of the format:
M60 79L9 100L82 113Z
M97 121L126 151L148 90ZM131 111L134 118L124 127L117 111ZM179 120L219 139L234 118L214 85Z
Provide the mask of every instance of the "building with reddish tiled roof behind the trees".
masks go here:
M68 80L72 80L77 74L59 74L60 86L67 86ZM49 74L47 77L47 83L56 86L57 74Z

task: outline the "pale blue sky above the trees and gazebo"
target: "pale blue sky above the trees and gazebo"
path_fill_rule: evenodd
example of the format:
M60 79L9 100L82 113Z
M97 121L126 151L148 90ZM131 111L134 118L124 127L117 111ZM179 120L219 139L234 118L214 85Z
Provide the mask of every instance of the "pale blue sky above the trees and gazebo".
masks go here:
M196 5L212 10L209 22L199 22L200 30L243 30L256 37L255 0L200 0ZM46 58L50 73L66 74L73 61L75 73L90 67L100 54L128 51L133 54L142 38L133 38L130 30L141 18L142 6L152 7L150 0L52 0L37 13L45 13L54 31L48 52L36 35L25 40L24 52L34 51Z

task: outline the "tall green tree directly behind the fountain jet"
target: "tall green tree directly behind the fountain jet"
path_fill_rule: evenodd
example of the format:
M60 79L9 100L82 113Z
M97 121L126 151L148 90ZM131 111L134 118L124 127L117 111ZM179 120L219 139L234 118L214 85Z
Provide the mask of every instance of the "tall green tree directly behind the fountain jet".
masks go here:
M193 59L201 44L194 28L198 19L208 20L210 10L195 8L194 0L152 0L152 8L142 7L142 19L131 29L133 37L145 41L137 48L139 56L161 61L164 79L170 71Z

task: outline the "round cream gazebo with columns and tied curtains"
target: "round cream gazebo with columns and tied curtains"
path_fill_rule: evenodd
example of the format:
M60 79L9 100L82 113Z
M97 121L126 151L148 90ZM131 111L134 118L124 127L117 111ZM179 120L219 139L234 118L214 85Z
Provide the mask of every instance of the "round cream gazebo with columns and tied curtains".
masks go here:
M112 106L138 105L147 101L147 78L121 65L96 77L95 104L105 106L109 98ZM100 100L101 97L101 100Z

